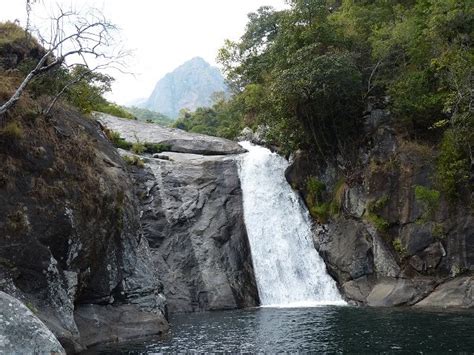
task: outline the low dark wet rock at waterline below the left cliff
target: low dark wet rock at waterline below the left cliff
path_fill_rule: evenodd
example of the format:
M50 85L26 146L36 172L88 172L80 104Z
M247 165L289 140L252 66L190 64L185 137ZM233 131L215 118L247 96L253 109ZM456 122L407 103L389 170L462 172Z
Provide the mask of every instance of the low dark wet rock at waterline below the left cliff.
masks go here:
M168 322L161 313L143 312L134 305L80 305L75 319L87 347L162 335Z

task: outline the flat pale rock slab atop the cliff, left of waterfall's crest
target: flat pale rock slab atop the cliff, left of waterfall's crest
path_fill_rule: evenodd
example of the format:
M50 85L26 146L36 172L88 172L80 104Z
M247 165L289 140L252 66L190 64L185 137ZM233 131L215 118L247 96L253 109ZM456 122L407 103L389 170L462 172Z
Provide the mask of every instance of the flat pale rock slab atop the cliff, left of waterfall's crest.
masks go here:
M226 155L245 152L240 145L224 138L189 133L177 128L161 127L152 123L122 119L97 112L96 118L108 129L120 132L130 142L163 144L178 153Z

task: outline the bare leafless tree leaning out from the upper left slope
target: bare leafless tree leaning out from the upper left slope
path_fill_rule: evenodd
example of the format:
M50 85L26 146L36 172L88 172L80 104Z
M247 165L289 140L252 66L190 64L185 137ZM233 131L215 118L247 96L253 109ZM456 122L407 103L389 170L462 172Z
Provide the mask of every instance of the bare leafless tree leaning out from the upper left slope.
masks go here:
M128 53L122 50L114 51L113 34L117 31L117 27L98 10L89 10L88 13L82 14L77 11L63 11L59 8L58 15L50 20L48 36L44 35L44 32L48 31L38 29L32 31L44 47L45 54L23 79L10 99L0 106L0 116L18 102L28 84L35 77L59 66L72 68L75 65L81 65L88 68L89 72L104 68L123 72L125 66L123 60ZM68 60L71 60L72 64L68 64ZM67 83L53 98L46 112L49 113L59 96L80 79L74 78L73 82Z

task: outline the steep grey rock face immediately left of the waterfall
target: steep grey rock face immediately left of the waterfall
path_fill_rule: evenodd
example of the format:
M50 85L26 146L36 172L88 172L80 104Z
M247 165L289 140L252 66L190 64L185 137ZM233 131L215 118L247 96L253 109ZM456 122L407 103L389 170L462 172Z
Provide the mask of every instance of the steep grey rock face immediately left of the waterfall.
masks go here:
M258 305L234 158L167 153L134 178L171 312Z

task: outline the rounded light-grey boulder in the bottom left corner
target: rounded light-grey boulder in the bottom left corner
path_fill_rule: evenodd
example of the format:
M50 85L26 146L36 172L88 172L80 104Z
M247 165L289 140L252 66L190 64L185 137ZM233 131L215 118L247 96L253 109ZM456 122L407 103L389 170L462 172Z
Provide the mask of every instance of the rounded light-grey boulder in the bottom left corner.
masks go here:
M66 351L30 309L0 291L0 353L66 354Z

